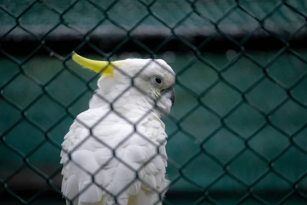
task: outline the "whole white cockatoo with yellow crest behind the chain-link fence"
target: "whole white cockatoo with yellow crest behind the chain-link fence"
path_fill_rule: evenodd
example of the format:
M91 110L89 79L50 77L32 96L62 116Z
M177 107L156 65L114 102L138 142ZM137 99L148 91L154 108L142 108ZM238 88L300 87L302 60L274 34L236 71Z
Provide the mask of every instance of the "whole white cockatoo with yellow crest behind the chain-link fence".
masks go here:
M162 59L72 58L101 76L62 143L67 204L162 204L169 181L160 118L174 104L173 70Z

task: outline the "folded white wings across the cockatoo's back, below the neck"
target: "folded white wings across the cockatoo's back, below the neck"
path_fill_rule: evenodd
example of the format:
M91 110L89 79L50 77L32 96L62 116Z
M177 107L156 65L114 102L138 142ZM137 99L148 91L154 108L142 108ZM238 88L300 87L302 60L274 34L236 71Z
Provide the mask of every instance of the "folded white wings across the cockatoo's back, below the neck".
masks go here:
M133 121L133 116L126 117ZM166 134L161 122L147 118L137 131L107 107L79 114L62 144L64 196L81 203L106 196L104 204L113 204L111 196L119 195L117 200L127 204L141 187L146 192L164 188ZM137 170L141 180L136 180Z

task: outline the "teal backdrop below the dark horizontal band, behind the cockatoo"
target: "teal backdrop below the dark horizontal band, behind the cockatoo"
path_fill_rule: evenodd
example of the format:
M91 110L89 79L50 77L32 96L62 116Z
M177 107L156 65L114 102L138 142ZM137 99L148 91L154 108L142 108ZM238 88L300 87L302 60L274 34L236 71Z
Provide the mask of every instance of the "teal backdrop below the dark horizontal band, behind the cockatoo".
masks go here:
M248 52L262 64L266 64L277 51ZM302 56L306 56L307 54L304 50L298 50L297 52ZM222 54L202 54L218 70L228 65L235 55L234 51L228 51ZM16 57L23 59L25 56ZM86 55L86 57L99 59L96 55ZM138 53L123 53L116 55L114 59L126 57L147 56ZM283 193L290 192L292 190L292 184L273 172L264 176L257 183L254 182L269 170L268 163L262 160L262 158L270 161L284 149L287 149L287 151L276 158L273 169L293 183L299 180L306 172L307 155L305 154L306 151L304 152L302 150L307 145L307 129L301 128L307 121L307 110L289 99L287 103L271 113L269 119L273 126L269 125L265 117L250 105L257 107L264 113L269 113L282 100L289 98L289 96L284 89L281 89L266 78L255 88L251 89L250 92L246 93L245 97L248 104L243 103L236 111L227 116L225 118L226 126L214 133L222 126L222 121L216 115L212 114L212 112L208 111L208 109L200 106L190 114L186 114L195 106L199 105L200 100L217 115L221 117L225 116L242 101L242 95L238 91L245 92L248 87L264 75L262 70L252 63L251 60L245 57L239 58L229 69L222 72L224 80L227 80L237 88L235 90L227 86L226 83L223 83L218 78L218 74L201 61L196 60L190 65L189 60L193 57L190 53L178 54L166 52L160 54L159 57L165 59L176 73L180 73L178 76L178 84L175 88L177 101L171 111L172 118L180 121L179 126L168 117L163 119L166 124L166 131L171 135L167 144L167 153L170 158L167 172L169 178L173 181L170 192L201 192L202 188L206 188L215 179L220 177L214 185L210 186L210 193L235 191L237 194L236 198L233 199L234 201L243 197L246 193L246 187L229 175L222 176L224 174L222 166L212 160L210 155L217 158L223 164L232 160L228 166L229 173L242 180L247 186L252 185L252 192L254 193L269 193L271 190ZM2 87L19 70L16 65L3 56L0 58L0 62L0 87ZM71 60L67 65L84 81L88 81L94 76L94 73L80 68ZM182 72L187 65L190 65L189 68ZM23 67L28 76L35 77L42 84L49 82L62 68L62 62L53 56L35 56ZM285 89L291 87L306 72L307 65L303 61L286 53L278 57L275 63L268 67L269 76L277 80ZM93 79L92 83L90 83L90 87L93 90L96 88L96 80L97 78ZM203 96L200 96L216 80L218 80L218 83L213 88L210 88ZM303 105L307 105L306 87L307 79L303 79L290 91L292 96ZM187 91L185 88L191 91ZM68 71L61 72L59 76L54 78L46 86L46 92L49 95L60 100L63 106L70 105L68 110L74 116L88 108L88 101L92 96L92 91L86 92L85 95L82 95L79 100L72 104L74 99L86 89L85 83ZM63 136L68 132L69 126L73 122L73 117L66 116L57 126L53 127L67 113L65 109L57 105L46 95L42 95L36 103L29 107L31 102L41 93L42 89L23 74L18 75L18 77L2 90L2 95L7 100L10 100L22 110L26 109L25 116L29 120L40 126L42 130L48 131L47 136L57 142L58 147L46 140L46 136L39 129L27 122L27 120L20 121L13 129L8 131L8 129L23 117L20 111L10 106L4 99L0 99L0 133L6 133L6 143L24 155L27 155L40 144L39 149L29 156L29 162L46 175L51 175L60 167L60 144L63 141ZM198 95L199 97L195 97L194 95ZM250 135L263 125L266 126L247 142L250 149L243 151L247 148L243 139L248 139ZM282 130L284 133L279 132L274 127ZM49 130L50 128L52 129ZM295 144L293 146L290 144L289 137L286 135L293 135L299 129L301 130L293 138L293 143ZM187 133L193 137L188 136ZM213 136L201 146L201 142L206 140L212 133L214 133ZM241 138L235 133L238 133ZM201 147L205 149L206 153L201 153ZM298 147L302 150L298 149ZM259 155L255 155L254 152L257 152ZM198 153L200 154L196 156ZM240 154L237 155L238 153ZM0 144L0 156L3 156L0 158L1 179L6 179L24 164L21 157L3 144ZM182 170L181 175L179 171L183 165L185 165L185 168ZM177 180L178 177L180 177L179 180ZM23 171L17 173L16 176L12 177L8 182L8 187L23 187L27 183L33 186L43 186L46 184L46 181L37 176L29 168L25 168ZM56 187L60 186L60 174L54 177L53 183ZM306 192L307 179L302 178L297 183L297 186L298 189ZM270 199L269 196L264 196L264 199L271 200L271 202L273 200L276 203L283 196L277 197L276 199ZM195 202L196 200L197 198L193 201ZM218 199L215 200L218 201ZM225 200L223 204L233 204L233 201L227 202L228 199L226 198ZM191 200L188 203L192 204ZM175 204L187 203L176 202ZM257 203L251 202L246 204ZM306 203L295 202L295 204Z

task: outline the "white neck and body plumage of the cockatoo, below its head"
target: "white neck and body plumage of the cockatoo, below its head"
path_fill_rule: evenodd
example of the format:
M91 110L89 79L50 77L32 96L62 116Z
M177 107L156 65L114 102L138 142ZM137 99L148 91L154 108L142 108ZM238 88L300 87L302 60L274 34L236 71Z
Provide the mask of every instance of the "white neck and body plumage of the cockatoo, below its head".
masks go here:
M131 88L122 94L130 85L121 87L118 80L124 76L115 75L99 79L90 109L76 117L64 136L62 193L76 205L162 204L168 186L165 126L158 111L148 113L152 102L142 93ZM99 95L108 101L121 96L111 110Z

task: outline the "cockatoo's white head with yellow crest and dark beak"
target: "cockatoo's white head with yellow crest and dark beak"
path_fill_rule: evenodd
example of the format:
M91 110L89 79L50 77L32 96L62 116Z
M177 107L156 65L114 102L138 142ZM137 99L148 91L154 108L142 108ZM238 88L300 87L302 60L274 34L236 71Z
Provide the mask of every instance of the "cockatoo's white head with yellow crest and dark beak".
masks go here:
M162 59L129 58L109 62L87 59L75 52L72 58L80 66L101 74L98 87L107 90L104 95L113 95L114 99L128 92L131 97L156 104L160 114L169 113L174 104L175 73Z

